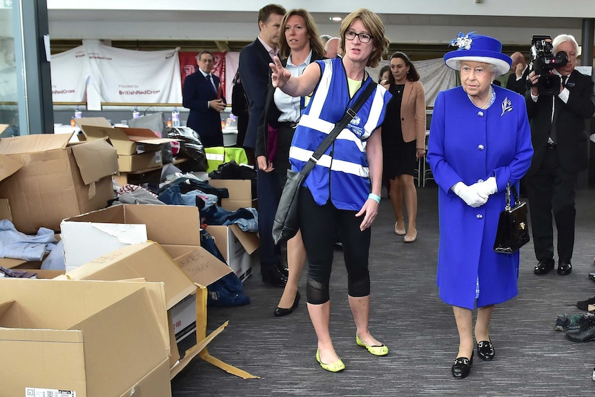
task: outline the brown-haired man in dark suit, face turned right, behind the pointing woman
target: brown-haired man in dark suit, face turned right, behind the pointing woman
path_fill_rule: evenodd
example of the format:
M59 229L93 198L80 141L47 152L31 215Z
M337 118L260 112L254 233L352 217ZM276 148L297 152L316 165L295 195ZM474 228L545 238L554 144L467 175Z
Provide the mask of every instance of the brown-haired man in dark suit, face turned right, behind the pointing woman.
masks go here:
M260 119L266 104L266 93L269 88L269 64L273 56L277 55L279 35L282 34L280 27L285 9L276 4L264 6L258 12L258 26L260 35L240 52L240 79L244 84L244 91L248 97L248 128L244 139L244 149L248 155L248 161L255 165L254 148L256 147L257 130ZM271 195L275 185L275 175L257 170L257 192L258 198ZM283 287L287 282L286 268L281 264L280 246L275 246L271 237L271 227L266 229L266 222L260 222L261 233L268 233L263 236L258 249L260 255L260 273L262 280L267 284Z

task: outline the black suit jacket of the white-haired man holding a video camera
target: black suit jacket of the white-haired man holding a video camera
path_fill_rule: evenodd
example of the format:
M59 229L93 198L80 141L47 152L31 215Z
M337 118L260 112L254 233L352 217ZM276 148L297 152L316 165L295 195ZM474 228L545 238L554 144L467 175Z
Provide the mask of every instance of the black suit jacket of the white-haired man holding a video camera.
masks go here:
M538 171L547 150L547 138L552 129L552 101L556 101L554 123L558 146L555 150L558 152L560 167L568 173L578 173L588 166L589 135L585 119L595 113L594 84L591 77L574 70L568 77L566 88L570 91L567 104L558 95L540 95L534 102L531 99L531 90L527 90L525 94L534 149L531 166L527 171L529 177Z

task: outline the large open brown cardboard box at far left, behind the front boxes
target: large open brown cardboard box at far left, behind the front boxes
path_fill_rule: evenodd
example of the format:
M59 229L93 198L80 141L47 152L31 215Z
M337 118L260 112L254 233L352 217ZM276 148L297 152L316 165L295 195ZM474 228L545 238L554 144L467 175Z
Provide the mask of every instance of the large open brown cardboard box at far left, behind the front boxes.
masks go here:
M68 134L1 138L0 169L22 168L0 182L0 198L10 203L12 223L26 234L43 226L59 229L66 217L104 208L113 198L111 175L117 155L104 140L67 146Z

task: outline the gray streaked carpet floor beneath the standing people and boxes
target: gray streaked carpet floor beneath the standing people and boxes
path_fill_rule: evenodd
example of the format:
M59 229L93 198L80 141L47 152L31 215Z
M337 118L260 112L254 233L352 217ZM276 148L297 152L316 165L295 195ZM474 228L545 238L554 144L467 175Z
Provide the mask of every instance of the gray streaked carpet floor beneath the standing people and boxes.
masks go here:
M523 247L518 297L496 307L492 317L496 357L476 357L463 380L451 376L458 334L452 309L436 287L437 201L436 184L418 189L418 240L412 244L393 233L389 200L382 200L373 226L370 329L389 346L388 356L355 345L339 249L331 278L331 336L347 369L338 374L315 360L304 275L298 308L275 318L282 289L260 280L256 257L244 283L251 304L209 310L209 331L226 320L229 325L208 350L260 379L243 380L195 358L172 381L173 396L595 396L595 344L571 342L554 331L558 314L579 313L575 302L595 296L595 283L587 278L595 271L595 190L577 193L572 274L534 275L533 245Z

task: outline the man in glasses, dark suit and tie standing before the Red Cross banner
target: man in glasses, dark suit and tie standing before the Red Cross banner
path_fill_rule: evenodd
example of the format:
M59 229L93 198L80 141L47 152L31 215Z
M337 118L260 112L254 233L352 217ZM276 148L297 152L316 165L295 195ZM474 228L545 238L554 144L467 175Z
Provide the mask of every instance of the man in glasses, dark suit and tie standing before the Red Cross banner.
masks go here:
M209 51L197 55L198 70L184 79L184 108L190 109L186 125L195 130L206 148L223 146L220 113L225 108L221 81L211 74L215 57Z

